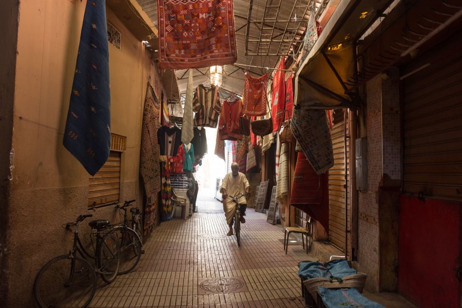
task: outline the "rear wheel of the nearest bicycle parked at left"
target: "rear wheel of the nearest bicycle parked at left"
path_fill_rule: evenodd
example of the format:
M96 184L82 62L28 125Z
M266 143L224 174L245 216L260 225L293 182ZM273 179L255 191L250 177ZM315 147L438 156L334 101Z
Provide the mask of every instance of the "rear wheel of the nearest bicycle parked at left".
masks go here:
M98 247L98 270L104 281L111 283L120 266L119 240L111 233L103 236Z

